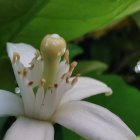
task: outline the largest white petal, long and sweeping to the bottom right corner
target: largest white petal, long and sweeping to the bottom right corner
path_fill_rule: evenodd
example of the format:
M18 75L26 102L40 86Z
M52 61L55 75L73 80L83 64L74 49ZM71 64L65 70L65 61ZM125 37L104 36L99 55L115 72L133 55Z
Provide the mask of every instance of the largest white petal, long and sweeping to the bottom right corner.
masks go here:
M84 101L63 104L54 121L87 140L136 140L133 132L107 109Z

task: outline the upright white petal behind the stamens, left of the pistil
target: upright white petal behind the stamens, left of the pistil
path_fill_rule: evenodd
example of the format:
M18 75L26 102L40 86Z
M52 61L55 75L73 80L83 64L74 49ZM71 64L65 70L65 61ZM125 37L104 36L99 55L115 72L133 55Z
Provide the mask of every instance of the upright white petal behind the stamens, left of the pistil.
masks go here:
M36 49L24 43L7 43L7 51L11 61L13 60L13 53L17 52L20 54L20 62L25 67L29 67L29 63L35 57Z

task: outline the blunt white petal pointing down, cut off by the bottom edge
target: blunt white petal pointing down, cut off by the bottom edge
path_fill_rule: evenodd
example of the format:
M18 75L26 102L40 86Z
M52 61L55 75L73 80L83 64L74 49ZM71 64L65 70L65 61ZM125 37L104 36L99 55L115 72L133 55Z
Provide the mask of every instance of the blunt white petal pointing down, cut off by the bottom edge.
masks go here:
M53 140L52 124L29 118L19 118L7 131L4 140Z

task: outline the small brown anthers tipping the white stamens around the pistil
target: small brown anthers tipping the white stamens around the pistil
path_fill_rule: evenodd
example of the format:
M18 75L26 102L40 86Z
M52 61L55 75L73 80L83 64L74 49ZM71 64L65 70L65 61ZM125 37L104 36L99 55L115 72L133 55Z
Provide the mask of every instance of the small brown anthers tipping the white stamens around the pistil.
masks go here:
M35 53L35 57L33 58L32 62L30 63L29 67L24 67L23 70L22 68L22 64L20 63L20 54L17 52L14 52L13 54L13 64L16 64L18 66L18 75L22 75L23 78L26 78L28 76L28 72L31 73L31 71L34 69L34 66L36 65L37 61L43 61L40 52L36 51ZM65 82L67 84L71 84L71 86L73 86L77 81L78 81L78 77L80 76L80 74L77 74L71 81L70 81L70 77L72 75L73 70L75 69L77 62L73 61L71 64L69 64L69 50L67 49L65 54L64 54L64 61L65 61L65 65L69 66L69 69L66 73L64 73L61 76L61 80L65 80ZM29 78L29 77L28 77ZM40 80L40 85L44 87L46 82L45 78L41 78ZM32 86L34 84L33 80L28 81L27 85ZM48 89L51 88L57 88L59 85L59 83L54 83L53 85L49 85Z

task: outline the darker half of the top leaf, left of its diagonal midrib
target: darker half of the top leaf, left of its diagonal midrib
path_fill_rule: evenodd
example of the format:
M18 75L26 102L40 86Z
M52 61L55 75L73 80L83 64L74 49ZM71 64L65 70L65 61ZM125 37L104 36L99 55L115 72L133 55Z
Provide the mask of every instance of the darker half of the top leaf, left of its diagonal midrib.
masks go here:
M0 2L0 19L2 19L0 20L1 48L5 47L6 42L13 41L25 26L37 16L36 14L48 1L49 0L2 0ZM34 36L32 36L32 38L35 41ZM32 42L32 38L30 38L30 43Z

